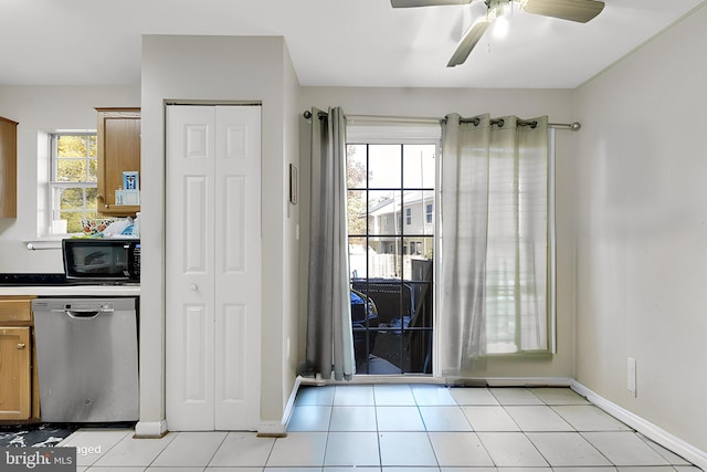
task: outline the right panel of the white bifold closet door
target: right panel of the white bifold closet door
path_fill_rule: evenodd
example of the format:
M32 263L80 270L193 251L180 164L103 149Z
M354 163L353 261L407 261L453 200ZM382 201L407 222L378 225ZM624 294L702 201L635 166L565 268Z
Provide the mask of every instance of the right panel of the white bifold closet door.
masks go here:
M261 107L217 107L215 429L256 430L261 353Z

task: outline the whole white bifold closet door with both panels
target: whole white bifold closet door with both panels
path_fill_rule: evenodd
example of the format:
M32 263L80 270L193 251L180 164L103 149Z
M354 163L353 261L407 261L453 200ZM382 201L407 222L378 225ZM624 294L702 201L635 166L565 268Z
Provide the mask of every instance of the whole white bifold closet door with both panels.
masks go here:
M261 107L167 106L168 428L260 422Z

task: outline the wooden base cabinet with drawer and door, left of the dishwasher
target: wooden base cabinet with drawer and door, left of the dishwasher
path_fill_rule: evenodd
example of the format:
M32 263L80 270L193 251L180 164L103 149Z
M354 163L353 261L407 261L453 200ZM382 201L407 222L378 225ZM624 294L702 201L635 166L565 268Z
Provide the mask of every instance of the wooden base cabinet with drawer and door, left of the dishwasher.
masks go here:
M0 296L0 420L39 416L32 298Z

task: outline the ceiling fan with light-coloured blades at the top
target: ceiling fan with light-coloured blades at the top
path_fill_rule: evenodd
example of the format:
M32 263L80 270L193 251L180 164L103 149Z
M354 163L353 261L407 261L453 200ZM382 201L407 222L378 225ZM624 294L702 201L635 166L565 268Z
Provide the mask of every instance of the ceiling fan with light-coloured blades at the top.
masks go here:
M390 0L393 8L411 7L436 7L447 4L466 4L473 0ZM604 2L598 0L484 0L487 14L469 28L456 51L446 64L447 67L463 64L468 57L476 43L494 22L498 14L503 13L503 8L511 1L517 2L528 13L540 14L542 17L559 18L562 20L587 23L597 17L604 9Z

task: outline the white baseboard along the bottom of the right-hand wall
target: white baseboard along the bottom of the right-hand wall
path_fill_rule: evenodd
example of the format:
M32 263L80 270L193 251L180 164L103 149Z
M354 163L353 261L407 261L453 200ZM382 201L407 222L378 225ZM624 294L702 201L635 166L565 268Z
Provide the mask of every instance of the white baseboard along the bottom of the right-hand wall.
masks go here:
M682 439L671 434L664 429L653 424L652 422L632 413L625 408L603 398L602 396L590 390L577 380L572 380L570 388L585 397L590 402L601 408L618 420L629 424L646 438L657 442L664 448L675 452L686 461L692 462L703 470L707 470L707 452L700 451L694 445L683 441Z

